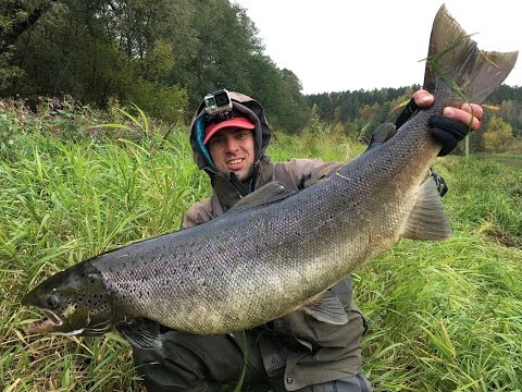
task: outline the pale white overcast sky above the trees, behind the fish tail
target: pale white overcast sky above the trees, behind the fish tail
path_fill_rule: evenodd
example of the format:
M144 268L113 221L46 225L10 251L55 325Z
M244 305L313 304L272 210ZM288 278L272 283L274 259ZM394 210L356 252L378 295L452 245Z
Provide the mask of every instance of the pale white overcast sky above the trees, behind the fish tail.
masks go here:
M422 84L442 0L233 0L247 9L265 54L291 70L303 94ZM517 0L446 0L484 50L519 50L506 79L522 86L522 14Z

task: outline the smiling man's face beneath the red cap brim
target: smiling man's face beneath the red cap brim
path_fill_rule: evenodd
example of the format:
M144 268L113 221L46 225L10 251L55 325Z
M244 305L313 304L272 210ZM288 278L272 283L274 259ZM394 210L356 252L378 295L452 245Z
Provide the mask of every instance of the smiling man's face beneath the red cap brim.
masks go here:
M223 128L212 136L207 143L207 148L219 172L232 171L241 182L252 173L254 156L252 131Z

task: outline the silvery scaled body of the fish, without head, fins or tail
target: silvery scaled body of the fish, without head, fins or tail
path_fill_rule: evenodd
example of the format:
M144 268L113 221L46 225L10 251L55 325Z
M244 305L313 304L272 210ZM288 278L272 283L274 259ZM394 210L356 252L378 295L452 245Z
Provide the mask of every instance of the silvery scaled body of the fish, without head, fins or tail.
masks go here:
M421 121L283 201L233 210L94 260L121 317L213 334L302 306L396 242L439 148L415 125Z

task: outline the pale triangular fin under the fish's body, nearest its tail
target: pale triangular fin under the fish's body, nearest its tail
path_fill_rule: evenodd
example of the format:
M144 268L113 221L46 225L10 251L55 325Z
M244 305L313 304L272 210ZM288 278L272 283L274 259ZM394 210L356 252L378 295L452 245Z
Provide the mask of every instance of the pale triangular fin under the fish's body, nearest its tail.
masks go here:
M415 206L400 235L405 238L424 241L451 237L449 217L432 176L421 185Z

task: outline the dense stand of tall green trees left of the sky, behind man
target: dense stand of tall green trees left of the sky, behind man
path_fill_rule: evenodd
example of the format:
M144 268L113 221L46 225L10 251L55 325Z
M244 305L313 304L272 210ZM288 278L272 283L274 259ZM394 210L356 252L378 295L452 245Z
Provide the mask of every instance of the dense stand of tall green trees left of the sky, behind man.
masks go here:
M262 102L274 126L307 122L299 78L263 53L229 0L4 0L0 12L1 45L12 42L0 56L0 96L117 99L178 121L228 88Z

